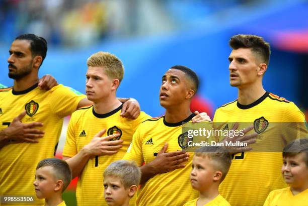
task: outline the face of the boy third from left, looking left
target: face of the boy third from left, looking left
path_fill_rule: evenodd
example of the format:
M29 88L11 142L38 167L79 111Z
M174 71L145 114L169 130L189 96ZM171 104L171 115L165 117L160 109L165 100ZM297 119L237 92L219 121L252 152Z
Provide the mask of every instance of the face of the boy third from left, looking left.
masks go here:
M190 182L194 189L198 191L207 189L213 183L215 173L216 171L208 157L194 155L190 173Z

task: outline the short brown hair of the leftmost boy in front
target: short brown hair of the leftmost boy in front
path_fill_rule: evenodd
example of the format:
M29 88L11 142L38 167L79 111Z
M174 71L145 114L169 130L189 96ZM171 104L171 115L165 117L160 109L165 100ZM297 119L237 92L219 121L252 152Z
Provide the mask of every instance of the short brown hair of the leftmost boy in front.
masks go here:
M55 179L60 179L63 181L63 192L71 181L71 169L67 162L58 158L47 158L40 161L36 169L46 166L51 166L53 168L51 173Z

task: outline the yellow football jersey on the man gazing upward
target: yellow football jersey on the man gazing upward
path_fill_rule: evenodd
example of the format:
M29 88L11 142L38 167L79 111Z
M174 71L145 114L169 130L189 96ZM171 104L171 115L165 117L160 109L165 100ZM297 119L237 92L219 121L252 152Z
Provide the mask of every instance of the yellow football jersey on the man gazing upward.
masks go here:
M188 122L192 114L183 122ZM124 159L135 161L141 166L153 161L158 152L168 142L167 152L182 150L187 144L187 137L182 134L182 122L170 124L164 117L144 121L136 130L133 141ZM181 145L181 146L180 146ZM185 168L153 176L141 185L137 205L183 205L198 197L198 191L190 184L192 156Z

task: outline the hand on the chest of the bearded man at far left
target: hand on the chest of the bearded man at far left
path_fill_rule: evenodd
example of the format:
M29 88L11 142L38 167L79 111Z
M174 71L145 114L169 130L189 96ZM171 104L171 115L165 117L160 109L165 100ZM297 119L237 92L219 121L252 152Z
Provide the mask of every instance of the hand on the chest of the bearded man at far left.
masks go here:
M7 140L37 143L37 138L42 138L44 136L44 131L33 129L35 127L42 127L43 123L22 123L21 120L25 117L25 115L26 111L14 118L10 126L3 130Z

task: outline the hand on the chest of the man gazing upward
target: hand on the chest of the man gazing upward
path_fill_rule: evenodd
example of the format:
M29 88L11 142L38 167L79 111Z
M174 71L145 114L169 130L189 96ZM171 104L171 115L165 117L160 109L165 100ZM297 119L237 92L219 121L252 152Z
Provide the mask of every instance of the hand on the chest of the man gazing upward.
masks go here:
M164 145L157 157L148 163L148 166L155 171L156 174L166 173L175 169L184 168L183 162L188 161L189 153L185 151L168 152L168 143Z

